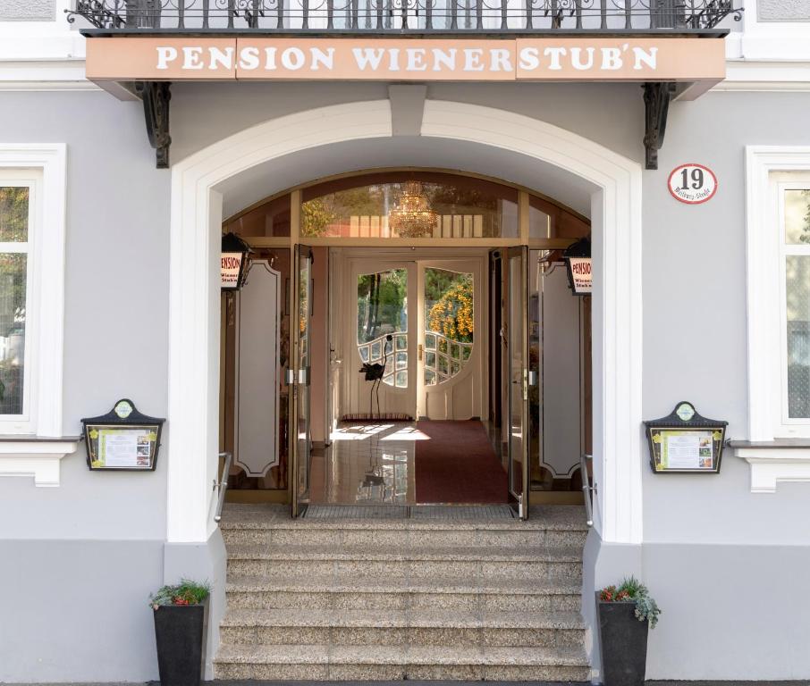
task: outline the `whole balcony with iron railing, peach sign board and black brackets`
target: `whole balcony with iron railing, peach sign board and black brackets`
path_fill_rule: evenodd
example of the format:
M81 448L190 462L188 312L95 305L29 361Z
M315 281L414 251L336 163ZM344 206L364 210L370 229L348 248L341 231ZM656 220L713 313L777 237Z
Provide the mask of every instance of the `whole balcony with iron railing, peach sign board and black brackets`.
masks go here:
M169 166L177 80L632 82L645 166L671 99L725 78L735 0L78 0L87 78L143 102ZM696 40L696 38L715 38ZM639 94L641 95L641 94ZM639 97L641 99L641 97Z

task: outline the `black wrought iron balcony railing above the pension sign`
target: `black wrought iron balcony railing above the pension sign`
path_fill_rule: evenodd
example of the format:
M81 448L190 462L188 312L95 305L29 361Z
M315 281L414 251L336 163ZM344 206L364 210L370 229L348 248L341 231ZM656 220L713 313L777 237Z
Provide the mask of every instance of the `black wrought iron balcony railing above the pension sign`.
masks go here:
M734 0L78 0L68 21L106 34L688 34L741 12Z

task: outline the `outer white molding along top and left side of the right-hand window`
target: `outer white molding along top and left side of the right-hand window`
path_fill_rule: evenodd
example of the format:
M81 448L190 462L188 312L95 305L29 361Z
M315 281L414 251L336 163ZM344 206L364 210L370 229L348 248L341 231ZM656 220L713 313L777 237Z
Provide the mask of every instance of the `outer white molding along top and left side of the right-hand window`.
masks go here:
M746 264L748 330L748 436L776 436L780 397L780 269L778 215L772 171L810 170L810 146L746 146Z

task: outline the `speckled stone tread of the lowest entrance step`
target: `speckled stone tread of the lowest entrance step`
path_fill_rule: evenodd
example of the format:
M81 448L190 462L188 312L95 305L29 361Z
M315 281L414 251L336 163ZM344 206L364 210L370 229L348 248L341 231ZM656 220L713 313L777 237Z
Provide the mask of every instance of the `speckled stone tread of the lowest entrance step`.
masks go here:
M215 663L246 665L588 666L583 648L458 646L222 645Z

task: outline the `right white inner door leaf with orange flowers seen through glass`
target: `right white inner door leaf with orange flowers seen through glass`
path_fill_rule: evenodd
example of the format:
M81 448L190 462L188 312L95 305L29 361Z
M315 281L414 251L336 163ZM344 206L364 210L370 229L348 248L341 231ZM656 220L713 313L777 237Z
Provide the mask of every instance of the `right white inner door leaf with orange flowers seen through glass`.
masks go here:
M483 283L480 260L418 263L417 414L426 419L481 416Z

